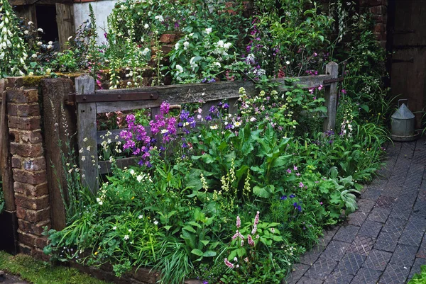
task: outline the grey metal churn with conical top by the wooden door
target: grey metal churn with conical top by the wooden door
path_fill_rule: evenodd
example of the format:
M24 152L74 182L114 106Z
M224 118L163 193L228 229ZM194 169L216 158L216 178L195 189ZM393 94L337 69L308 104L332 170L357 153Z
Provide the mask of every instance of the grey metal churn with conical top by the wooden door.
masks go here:
M415 116L413 113L405 106L405 103L400 105L400 101L408 100L399 100L398 101L398 110L393 113L391 116L391 128L392 134L391 138L393 141L412 141L417 137L417 132L415 132Z

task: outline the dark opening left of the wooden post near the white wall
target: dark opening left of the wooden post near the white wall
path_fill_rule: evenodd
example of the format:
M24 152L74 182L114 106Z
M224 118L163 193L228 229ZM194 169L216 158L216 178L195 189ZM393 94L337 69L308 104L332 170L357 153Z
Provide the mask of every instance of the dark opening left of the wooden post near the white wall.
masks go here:
M58 41L58 24L56 23L56 7L54 5L36 5L37 26L43 29L41 39L45 42Z

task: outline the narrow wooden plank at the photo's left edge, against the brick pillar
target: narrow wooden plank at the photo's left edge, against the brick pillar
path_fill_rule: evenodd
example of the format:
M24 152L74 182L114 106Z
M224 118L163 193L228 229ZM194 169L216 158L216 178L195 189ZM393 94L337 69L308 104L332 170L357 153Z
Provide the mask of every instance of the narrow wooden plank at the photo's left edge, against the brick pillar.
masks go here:
M5 79L0 80L1 111L0 111L0 167L1 180L5 200L5 210L15 211L15 195L13 191L13 175L11 154L9 151L9 128L7 125L7 93Z

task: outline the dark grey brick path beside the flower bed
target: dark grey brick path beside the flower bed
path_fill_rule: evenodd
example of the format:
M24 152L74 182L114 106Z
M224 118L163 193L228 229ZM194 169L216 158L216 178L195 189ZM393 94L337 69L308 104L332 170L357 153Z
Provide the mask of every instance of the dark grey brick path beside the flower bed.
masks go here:
M388 146L359 209L293 266L288 284L403 284L426 264L426 140Z

